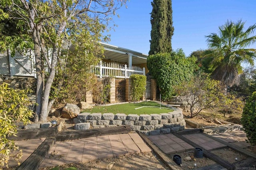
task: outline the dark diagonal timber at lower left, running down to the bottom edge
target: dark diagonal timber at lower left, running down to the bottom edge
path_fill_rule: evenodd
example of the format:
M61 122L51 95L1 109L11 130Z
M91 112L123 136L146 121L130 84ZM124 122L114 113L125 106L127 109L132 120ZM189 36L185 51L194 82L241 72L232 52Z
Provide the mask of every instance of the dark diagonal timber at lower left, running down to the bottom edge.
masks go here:
M49 137L20 165L18 170L36 170L43 162L50 148L55 144L55 137Z

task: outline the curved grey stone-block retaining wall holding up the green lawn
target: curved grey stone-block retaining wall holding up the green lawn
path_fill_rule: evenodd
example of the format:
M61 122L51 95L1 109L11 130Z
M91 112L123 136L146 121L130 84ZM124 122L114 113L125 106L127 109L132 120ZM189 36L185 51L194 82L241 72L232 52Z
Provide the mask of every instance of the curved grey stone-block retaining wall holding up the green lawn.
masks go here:
M125 115L122 113L80 113L73 119L74 128L102 128L112 126L131 125L132 131L140 131L145 135L158 135L181 131L185 128L182 111L150 115Z

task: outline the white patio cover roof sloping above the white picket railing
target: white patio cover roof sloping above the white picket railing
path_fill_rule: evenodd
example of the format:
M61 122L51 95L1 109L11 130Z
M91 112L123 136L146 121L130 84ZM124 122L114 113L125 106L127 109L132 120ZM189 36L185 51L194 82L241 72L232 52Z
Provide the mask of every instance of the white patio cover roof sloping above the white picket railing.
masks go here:
M147 62L148 55L136 51L101 43L105 49L104 55L106 60L118 61L120 63L129 63L129 58L132 59L131 64L142 64Z

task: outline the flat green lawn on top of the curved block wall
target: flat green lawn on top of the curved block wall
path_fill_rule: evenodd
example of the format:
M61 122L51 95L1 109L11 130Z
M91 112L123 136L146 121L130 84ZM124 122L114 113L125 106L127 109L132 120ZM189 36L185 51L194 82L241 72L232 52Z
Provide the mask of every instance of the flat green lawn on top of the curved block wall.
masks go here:
M151 107L142 107L142 106L151 106ZM152 107L156 106L156 107ZM138 107L142 107L140 109L135 109ZM90 112L90 113L124 113L128 114L159 114L159 113L168 113L172 112L172 109L167 109L167 107L161 106L156 102L140 102L137 104L134 103L127 103L127 104L116 104L112 106L94 106L92 109L85 109L83 112Z

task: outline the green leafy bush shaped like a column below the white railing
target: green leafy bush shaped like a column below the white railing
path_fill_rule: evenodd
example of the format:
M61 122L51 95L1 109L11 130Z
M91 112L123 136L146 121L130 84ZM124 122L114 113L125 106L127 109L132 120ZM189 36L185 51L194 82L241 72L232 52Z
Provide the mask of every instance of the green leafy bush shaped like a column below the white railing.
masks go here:
M146 76L134 74L130 76L131 83L131 101L139 101L146 91Z

